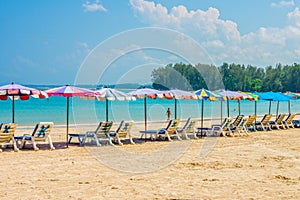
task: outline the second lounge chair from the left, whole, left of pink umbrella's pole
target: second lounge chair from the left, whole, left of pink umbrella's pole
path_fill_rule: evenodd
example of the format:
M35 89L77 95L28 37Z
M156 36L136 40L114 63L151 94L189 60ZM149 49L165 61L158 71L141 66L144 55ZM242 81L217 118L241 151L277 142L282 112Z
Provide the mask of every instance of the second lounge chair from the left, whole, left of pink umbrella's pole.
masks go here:
M32 143L33 149L35 151L39 150L37 147L37 144L49 144L50 145L50 150L54 150L54 146L52 143L52 139L50 136L50 132L53 128L53 122L40 122L36 124L32 134L24 134L21 136L21 145L20 149L22 149L26 142ZM18 137L20 139L20 137Z

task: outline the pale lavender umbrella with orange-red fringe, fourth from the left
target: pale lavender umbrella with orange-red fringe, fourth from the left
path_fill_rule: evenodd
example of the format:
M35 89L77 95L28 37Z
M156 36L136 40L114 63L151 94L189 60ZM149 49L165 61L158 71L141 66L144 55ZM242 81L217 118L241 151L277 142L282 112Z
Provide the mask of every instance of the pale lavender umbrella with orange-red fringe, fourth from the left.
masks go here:
M144 99L144 130L147 132L147 98L164 98L164 92L152 88L140 88L128 93L130 96ZM145 134L146 141L146 134Z

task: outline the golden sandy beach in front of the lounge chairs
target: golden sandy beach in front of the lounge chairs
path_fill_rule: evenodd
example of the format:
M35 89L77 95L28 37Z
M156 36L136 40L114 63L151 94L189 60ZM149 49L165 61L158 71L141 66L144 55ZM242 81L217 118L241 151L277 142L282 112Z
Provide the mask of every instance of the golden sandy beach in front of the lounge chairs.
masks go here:
M1 199L300 199L299 133L66 149L59 127L54 151L0 154Z

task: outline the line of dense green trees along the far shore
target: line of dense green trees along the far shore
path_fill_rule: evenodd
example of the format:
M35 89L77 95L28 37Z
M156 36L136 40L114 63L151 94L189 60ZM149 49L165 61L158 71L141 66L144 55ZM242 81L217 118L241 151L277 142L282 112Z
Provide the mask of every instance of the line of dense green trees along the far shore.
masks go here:
M219 67L176 63L154 69L151 80L156 89L300 92L300 64L261 68L234 63Z

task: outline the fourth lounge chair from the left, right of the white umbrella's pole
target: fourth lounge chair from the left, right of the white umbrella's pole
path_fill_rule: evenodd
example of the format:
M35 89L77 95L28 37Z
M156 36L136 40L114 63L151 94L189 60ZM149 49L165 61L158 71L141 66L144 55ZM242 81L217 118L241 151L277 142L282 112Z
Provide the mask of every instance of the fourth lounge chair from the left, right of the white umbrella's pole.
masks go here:
M112 138L114 141L117 141L117 143L119 145L123 145L123 143L121 142L121 138L129 137L130 144L135 144L133 142L132 136L130 134L130 130L131 130L133 124L134 124L134 122L121 121L121 123L116 131L109 132L110 138Z

